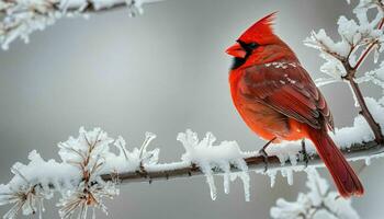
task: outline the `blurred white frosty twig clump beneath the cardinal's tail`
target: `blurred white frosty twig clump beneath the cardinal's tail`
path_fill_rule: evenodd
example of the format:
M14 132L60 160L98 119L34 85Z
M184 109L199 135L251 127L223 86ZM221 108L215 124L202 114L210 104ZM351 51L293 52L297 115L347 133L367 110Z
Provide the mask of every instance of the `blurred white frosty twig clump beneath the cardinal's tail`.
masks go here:
M329 184L315 169L307 170L309 192L300 193L296 201L283 198L271 208L274 219L359 219L351 206L351 199L341 198L337 192L329 189Z

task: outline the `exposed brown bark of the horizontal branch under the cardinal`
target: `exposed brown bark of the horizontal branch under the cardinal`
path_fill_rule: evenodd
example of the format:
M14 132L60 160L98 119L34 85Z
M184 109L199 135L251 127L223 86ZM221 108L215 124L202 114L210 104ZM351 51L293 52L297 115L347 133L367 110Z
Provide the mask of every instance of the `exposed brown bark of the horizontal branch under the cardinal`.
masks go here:
M341 151L348 160L353 160L353 161L365 160L366 158L371 158L371 157L384 155L384 145L377 143L376 141L373 140L364 143L353 143L350 148L342 149ZM249 170L263 172L266 168L264 158L261 155L245 158L245 161ZM161 171L151 171L150 169L146 169L146 171L118 173L118 180L121 183L124 183L124 184L133 183L133 182L153 183L154 181L203 175L202 170L195 164L188 164L183 162L179 162L179 164L180 165L178 169L167 170L165 168ZM158 164L158 165L161 165L161 164ZM324 165L324 163L317 154L312 155L307 164L302 159L297 159L296 165L292 165L290 160L287 160L284 163L284 165L282 165L282 163L280 162L276 155L268 157L269 170L284 170L284 169L291 169L292 166L304 169L306 165L317 166L317 165ZM223 173L222 171L217 171L217 170L213 170L213 171L215 174ZM230 171L239 172L240 170L235 166L230 166ZM104 174L102 175L102 178L104 181L113 181L115 178L115 175Z

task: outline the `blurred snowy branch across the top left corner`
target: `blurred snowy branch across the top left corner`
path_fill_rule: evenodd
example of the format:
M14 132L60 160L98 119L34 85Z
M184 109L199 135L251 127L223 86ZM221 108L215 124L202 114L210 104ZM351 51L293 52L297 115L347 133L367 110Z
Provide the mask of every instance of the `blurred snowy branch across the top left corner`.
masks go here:
M84 16L125 7L129 16L143 13L143 4L161 0L0 0L0 44L8 49L16 38L29 43L34 31L43 31L60 18Z

